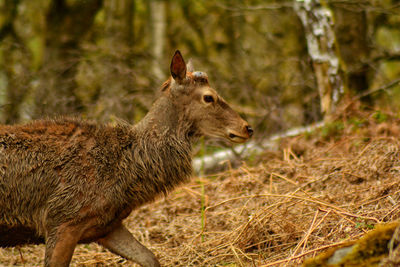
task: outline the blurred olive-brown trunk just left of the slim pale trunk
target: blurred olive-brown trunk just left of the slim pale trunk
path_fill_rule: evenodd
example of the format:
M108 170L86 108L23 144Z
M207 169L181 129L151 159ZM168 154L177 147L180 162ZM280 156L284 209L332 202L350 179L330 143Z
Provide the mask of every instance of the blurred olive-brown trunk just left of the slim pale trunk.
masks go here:
M127 108L127 94L133 78L131 73L133 45L134 1L105 1L105 34L100 37L101 56L94 64L100 82L101 95L93 103L95 117L109 121L113 116L131 119L134 110Z

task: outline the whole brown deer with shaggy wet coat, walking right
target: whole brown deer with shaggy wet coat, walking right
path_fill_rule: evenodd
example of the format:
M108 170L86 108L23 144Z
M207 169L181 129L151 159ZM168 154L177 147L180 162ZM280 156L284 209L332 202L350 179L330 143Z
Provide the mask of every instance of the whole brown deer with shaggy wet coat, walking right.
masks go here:
M45 243L44 265L59 267L78 243L97 242L159 266L122 220L188 181L198 137L241 143L253 133L205 73L187 71L179 51L170 71L135 126L68 118L0 126L0 247Z

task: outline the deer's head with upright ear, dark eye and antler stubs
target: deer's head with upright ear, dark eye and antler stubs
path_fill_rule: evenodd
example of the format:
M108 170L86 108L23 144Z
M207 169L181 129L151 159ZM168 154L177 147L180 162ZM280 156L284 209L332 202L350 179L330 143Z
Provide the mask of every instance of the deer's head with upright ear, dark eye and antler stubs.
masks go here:
M192 136L224 138L234 143L248 140L253 130L210 86L207 74L193 71L176 51L170 66L171 78L162 92L190 122Z

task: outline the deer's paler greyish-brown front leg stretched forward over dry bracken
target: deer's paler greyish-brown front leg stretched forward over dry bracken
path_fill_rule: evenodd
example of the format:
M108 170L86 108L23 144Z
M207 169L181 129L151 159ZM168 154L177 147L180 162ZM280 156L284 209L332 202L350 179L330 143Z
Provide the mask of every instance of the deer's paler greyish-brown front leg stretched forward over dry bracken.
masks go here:
M143 267L160 266L153 252L140 244L122 224L97 242L111 252L132 260Z

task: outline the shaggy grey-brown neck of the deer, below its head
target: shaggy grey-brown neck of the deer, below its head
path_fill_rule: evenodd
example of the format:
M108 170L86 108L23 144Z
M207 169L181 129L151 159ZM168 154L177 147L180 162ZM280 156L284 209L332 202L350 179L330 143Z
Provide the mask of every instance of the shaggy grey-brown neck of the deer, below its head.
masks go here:
M192 174L190 127L174 108L168 99L159 99L133 128L135 141L126 158L135 170L126 183L133 207L166 194Z

